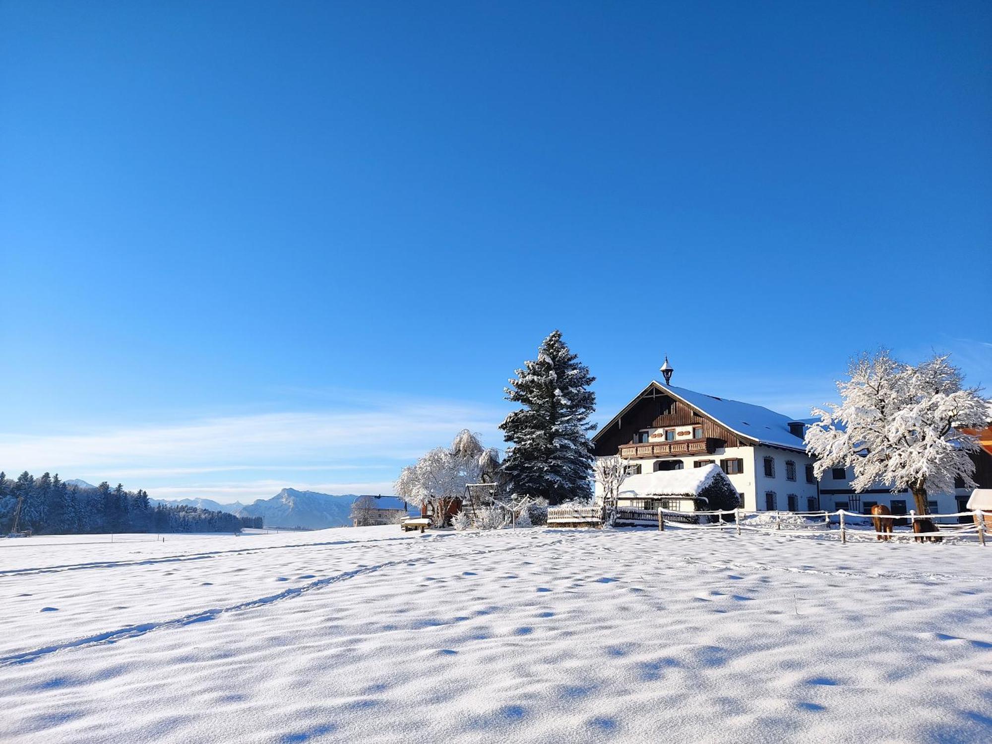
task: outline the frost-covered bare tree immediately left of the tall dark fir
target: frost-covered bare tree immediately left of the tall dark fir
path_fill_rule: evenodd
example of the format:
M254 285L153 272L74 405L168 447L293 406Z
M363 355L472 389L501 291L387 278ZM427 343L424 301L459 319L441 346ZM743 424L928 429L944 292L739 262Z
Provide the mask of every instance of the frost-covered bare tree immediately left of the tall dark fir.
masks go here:
M434 526L443 527L452 505L462 498L468 483L478 483L494 457L467 429L454 437L449 447L435 447L415 464L403 468L394 484L398 496L420 506L427 505Z

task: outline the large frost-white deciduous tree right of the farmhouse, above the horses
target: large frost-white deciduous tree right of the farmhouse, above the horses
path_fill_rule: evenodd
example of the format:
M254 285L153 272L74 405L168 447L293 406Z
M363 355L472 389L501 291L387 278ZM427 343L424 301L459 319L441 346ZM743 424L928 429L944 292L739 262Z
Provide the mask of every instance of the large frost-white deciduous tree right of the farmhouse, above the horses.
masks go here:
M952 492L955 478L974 488L969 455L978 444L960 429L984 427L987 403L978 388L962 387L947 358L914 367L881 351L852 360L850 379L837 383L840 405L812 411L819 421L806 431L806 451L818 458L816 476L852 467L854 490L909 489L918 514L928 513L928 491Z

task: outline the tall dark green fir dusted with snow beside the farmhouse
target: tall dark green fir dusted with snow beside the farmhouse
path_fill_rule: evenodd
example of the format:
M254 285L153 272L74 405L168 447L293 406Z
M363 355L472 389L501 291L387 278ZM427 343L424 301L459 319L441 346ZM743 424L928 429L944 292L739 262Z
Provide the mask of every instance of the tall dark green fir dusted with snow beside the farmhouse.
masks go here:
M503 472L513 493L558 504L589 499L592 488L592 443L589 423L596 395L595 380L561 340L561 331L548 336L538 358L524 363L505 389L506 398L519 403L500 425L511 442Z

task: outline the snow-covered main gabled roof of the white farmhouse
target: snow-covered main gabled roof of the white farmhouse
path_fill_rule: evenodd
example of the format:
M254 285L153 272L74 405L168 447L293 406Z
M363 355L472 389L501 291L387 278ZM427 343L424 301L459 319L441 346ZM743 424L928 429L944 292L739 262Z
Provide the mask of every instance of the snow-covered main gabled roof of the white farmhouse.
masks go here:
M699 413L708 416L734 434L739 434L746 439L753 439L762 444L806 451L806 445L803 443L803 439L789 431L789 423L798 422L800 421L799 419L792 419L784 414L778 414L764 406L755 406L753 403L741 403L740 401L732 401L729 398L717 398L713 395L696 393L694 390L677 388L658 382L657 380L652 380L651 385L642 390L637 398L631 401L630 405L624 411L614 417L613 421L600 429L596 436L606 432L620 416L641 400L641 397L651 390L652 387L681 400L682 403L691 406Z

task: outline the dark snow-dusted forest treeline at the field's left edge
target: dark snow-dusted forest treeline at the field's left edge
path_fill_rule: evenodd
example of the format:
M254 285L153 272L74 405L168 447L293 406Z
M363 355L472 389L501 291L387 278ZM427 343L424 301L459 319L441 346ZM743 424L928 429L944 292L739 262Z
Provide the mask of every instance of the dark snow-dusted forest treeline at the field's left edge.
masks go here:
M15 516L18 532L30 530L35 535L240 532L242 527L262 526L261 518L242 519L190 506L153 506L146 491L127 491L120 483L113 488L106 482L80 488L60 480L58 474L36 478L25 471L11 479L0 472L0 535L15 529Z

